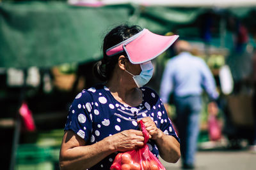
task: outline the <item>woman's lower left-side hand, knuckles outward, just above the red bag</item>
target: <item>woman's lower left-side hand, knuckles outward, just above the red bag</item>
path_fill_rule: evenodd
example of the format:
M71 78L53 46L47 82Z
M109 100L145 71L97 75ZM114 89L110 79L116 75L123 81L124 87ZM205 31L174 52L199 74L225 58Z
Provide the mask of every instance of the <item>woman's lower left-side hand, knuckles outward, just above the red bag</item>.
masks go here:
M143 133L134 129L126 130L108 137L113 144L114 150L125 152L143 146Z

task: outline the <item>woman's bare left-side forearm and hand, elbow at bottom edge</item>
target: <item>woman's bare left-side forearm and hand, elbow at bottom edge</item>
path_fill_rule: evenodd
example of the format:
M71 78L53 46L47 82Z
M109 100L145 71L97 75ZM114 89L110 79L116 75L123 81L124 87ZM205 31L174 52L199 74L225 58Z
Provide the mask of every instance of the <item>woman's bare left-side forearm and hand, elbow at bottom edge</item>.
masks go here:
M60 150L60 169L90 168L113 152L124 152L143 146L143 141L142 132L131 129L104 138L93 145L86 145L73 131L66 131Z

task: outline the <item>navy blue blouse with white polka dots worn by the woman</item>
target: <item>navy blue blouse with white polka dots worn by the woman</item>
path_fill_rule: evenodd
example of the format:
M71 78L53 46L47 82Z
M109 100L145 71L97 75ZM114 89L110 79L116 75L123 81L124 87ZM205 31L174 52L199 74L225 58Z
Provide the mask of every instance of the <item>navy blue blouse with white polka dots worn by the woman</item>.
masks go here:
M172 135L179 141L159 96L147 87L141 87L141 90L143 101L136 107L116 101L104 85L83 90L77 94L70 106L65 131L74 131L88 145L92 145L124 130L138 130L136 120L150 117L164 134ZM149 140L147 145L150 151L159 157L154 140ZM116 154L117 152L109 155L90 169L109 169Z

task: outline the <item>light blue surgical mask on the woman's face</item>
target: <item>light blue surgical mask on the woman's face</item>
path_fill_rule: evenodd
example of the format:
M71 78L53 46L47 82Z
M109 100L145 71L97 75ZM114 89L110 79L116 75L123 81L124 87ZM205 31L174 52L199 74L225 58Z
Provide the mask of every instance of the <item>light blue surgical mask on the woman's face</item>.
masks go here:
M136 85L139 88L143 87L143 85L148 83L148 81L153 76L153 70L154 70L154 67L151 61L140 64L140 67L141 67L140 75L134 75L125 69L127 73L132 75L133 80L135 81Z

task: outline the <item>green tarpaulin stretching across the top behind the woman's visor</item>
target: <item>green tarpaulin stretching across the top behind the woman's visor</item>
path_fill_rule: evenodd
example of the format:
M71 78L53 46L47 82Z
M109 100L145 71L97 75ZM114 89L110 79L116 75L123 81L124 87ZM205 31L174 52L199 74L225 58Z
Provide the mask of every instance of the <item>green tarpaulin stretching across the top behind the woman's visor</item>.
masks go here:
M210 8L135 4L93 8L35 1L0 3L0 67L51 67L98 60L102 56L104 35L125 22L159 34L179 29L180 38L182 34L198 38L200 25L195 24L196 20L208 11L223 15ZM230 8L228 11L244 20L248 16L252 18L255 8ZM256 25L251 19L246 21Z

